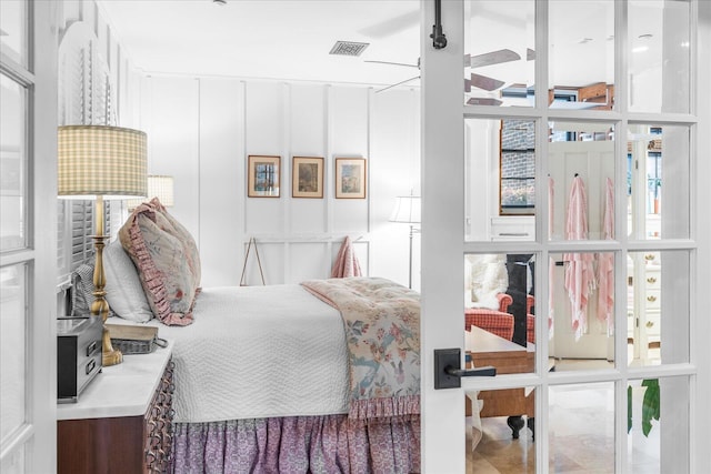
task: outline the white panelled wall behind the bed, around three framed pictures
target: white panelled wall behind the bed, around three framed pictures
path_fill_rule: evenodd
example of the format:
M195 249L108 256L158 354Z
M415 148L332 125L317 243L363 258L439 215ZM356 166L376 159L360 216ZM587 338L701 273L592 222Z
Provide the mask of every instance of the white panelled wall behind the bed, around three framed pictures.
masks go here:
M397 195L419 193L417 91L177 77L141 91L149 173L174 177L170 212L198 241L203 286L239 284L252 236L267 284L328 278L346 235L365 274L408 284L409 228L388 218ZM247 198L250 154L281 157L279 199ZM293 155L324 158L323 199L291 198ZM367 159L367 199L334 198L336 158Z

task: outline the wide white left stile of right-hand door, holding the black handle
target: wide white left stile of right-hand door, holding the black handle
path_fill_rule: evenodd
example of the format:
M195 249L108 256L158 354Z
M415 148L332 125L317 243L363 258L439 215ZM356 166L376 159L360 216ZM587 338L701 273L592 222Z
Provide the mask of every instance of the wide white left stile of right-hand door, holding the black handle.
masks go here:
M443 3L447 48L435 50L428 38L434 24L433 1L422 1L420 23L422 470L430 473L463 472L464 453L463 391L433 389L434 349L463 347L464 342L463 20L461 10Z

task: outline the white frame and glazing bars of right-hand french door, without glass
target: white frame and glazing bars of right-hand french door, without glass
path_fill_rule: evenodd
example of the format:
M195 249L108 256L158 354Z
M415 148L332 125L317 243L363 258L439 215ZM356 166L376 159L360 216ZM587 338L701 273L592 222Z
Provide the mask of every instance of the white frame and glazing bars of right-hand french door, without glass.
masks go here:
M463 1L443 1L441 20L447 34L448 46L445 49L435 50L429 34L434 24L434 2L422 0L421 3L421 72L422 72L422 470L424 473L458 473L464 471L464 395L463 389L440 390L433 389L434 369L433 351L435 349L460 347L463 350L463 254L465 252L537 252L541 262L548 261L549 248L553 251L574 251L571 244L559 244L551 246L542 241L547 239L541 222L545 222L545 205L540 205L544 201L538 198L537 209L541 210L541 218L537 222L537 242L530 243L465 243L463 241L463 201L464 201L464 167L463 167L463 117L467 114L478 117L497 117L505 113L507 117L524 117L533 114L548 117L547 104L539 104L534 110L507 109L505 111L491 111L482 107L464 107L462 94L462 56L463 51ZM624 31L627 27L619 19L619 13L627 11L627 4L615 2L618 28ZM690 375L691 389L691 420L690 420L690 468L691 472L702 472L708 467L708 452L704 450L707 438L704 432L711 425L711 411L708 410L708 400L711 400L711 357L704 354L709 346L708 340L711 334L711 317L707 316L708 303L704 295L711 288L711 212L707 203L709 177L711 177L711 92L708 84L711 83L711 68L704 54L708 54L708 47L711 44L711 2L692 1L692 13L698 14L699 29L692 30L698 33L697 41L692 44L692 54L695 65L692 65L692 112L694 115L665 115L667 120L681 120L682 122L695 120L692 125L692 195L691 215L692 233L687 242L679 243L684 248L692 249L692 259L695 266L692 269L691 290L691 339L690 339L690 363L675 364L674 367L648 369L651 376L659 375ZM539 18L537 28L537 57L539 61L547 61L547 18L548 2L541 0L537 2L537 17ZM700 48L702 44L703 48ZM627 60L627 52L622 47L617 48L618 59L615 62L617 80L619 83L618 100L627 100L627 88L622 84L621 72ZM544 97L547 92L547 72L539 69L537 71L537 97ZM590 112L588 112L590 113ZM648 114L652 122L659 121L658 114ZM578 115L575 115L578 117ZM580 117L585 118L584 113ZM593 117L593 115L588 115ZM607 115L594 115L602 119ZM610 117L621 123L627 124L629 114L622 117L620 113L611 112ZM645 114L634 115L638 120L645 120ZM663 120L663 119L662 119ZM539 133L542 128L539 125ZM540 143L542 154L545 154L545 142L537 139L537 149ZM615 145L618 152L623 149L622 141ZM697 158L698 157L698 158ZM544 157L537 163L537 173L544 170ZM621 167L620 167L621 169ZM462 177L461 180L452 177ZM542 194L542 193L539 193ZM622 224L623 216L618 215L617 221ZM621 229L621 226L619 226ZM670 245L674 245L672 242ZM695 259L694 259L695 258ZM538 269L544 265L537 265ZM623 290L623 275L625 265L618 265L615 270L618 276L618 292ZM541 279L537 279L541 281ZM547 307L547 288L537 286L541 295L537 301L543 309ZM540 306L539 306L540 307ZM544 314L541 311L540 314ZM698 315L698 316L697 316ZM624 324L624 309L615 309L615 322ZM537 333L542 334L544 330L544 319L537 319ZM615 353L623 353L627 341L625 336L618 337L615 342ZM517 375L515 384L537 386L537 431L547 432L548 422L545 411L548 407L548 389L550 375L544 370L548 343L542 339L537 352L537 373ZM463 352L463 351L462 351ZM620 359L620 357L618 357ZM627 359L624 357L624 361ZM618 371L612 375L595 377L595 381L614 382L618 395L615 395L615 406L618 413L625 410L621 389L627 385L628 370L625 363L618 365ZM635 377L642 372L635 373ZM560 374L558 374L560 377ZM557 383L583 383L590 381L588 376L577 373L565 374L563 379L557 379ZM505 382L502 379L479 379L477 381L462 382L467 389L504 389L513 382ZM618 416L615 422L617 433L624 433L625 421ZM627 436L615 436L615 452L620 453L615 460L615 471L624 468L624 453L627 452ZM537 437L537 471L548 472L548 443L545 436Z

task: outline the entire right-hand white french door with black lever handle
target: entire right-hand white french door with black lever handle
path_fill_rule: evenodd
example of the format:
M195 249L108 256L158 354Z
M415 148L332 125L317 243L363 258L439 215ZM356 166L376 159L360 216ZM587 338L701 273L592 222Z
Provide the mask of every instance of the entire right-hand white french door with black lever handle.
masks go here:
M709 6L435 8L422 2L424 472L699 471ZM497 375L435 389L441 349Z

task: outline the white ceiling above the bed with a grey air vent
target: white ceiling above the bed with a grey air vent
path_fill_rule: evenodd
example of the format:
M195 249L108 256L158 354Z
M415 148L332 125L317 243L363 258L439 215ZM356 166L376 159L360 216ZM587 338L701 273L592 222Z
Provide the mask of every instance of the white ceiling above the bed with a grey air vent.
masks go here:
M392 84L418 75L419 0L99 0L148 73ZM359 57L336 41L370 43Z

